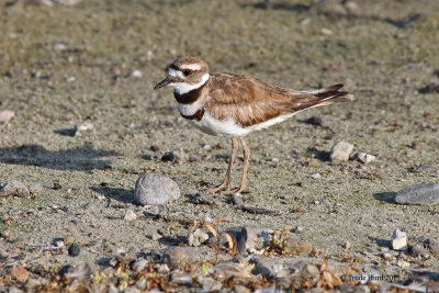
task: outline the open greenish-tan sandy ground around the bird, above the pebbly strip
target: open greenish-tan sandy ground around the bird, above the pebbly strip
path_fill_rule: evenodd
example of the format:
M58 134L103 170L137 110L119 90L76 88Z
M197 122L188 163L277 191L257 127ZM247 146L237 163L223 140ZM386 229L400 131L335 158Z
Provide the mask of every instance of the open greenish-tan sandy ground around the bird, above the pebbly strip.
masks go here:
M437 206L398 205L394 192L438 173L439 95L419 93L439 83L439 2L359 1L356 15L338 1L83 1L75 7L0 4L0 110L16 117L0 124L0 182L48 187L32 198L0 200L3 245L50 246L68 235L86 248L78 258L30 255L50 266L88 261L123 248L164 249L184 241L189 226L154 219L131 205L144 172L175 179L181 199L170 213L191 219L225 218L243 225L303 228L296 234L338 260L390 251L393 230L439 240ZM275 215L237 211L229 195L216 206L191 198L222 180L229 140L194 131L178 114L170 89L153 91L176 57L203 58L212 71L235 71L294 89L345 83L349 104L309 110L248 136L251 162L245 204ZM134 70L143 76L132 77ZM330 127L304 123L322 115ZM75 125L94 128L71 136ZM373 154L376 161L333 164L338 140ZM201 161L154 158L183 149ZM153 159L145 159L147 156ZM316 164L309 164L318 161ZM234 184L240 167L234 169ZM319 173L318 179L312 174ZM54 190L54 182L61 185ZM301 184L299 184L301 182ZM125 209L139 218L121 219ZM168 233L156 239L157 230ZM360 264L361 266L361 264ZM437 258L393 268L402 274L439 269ZM437 275L436 275L437 278Z

